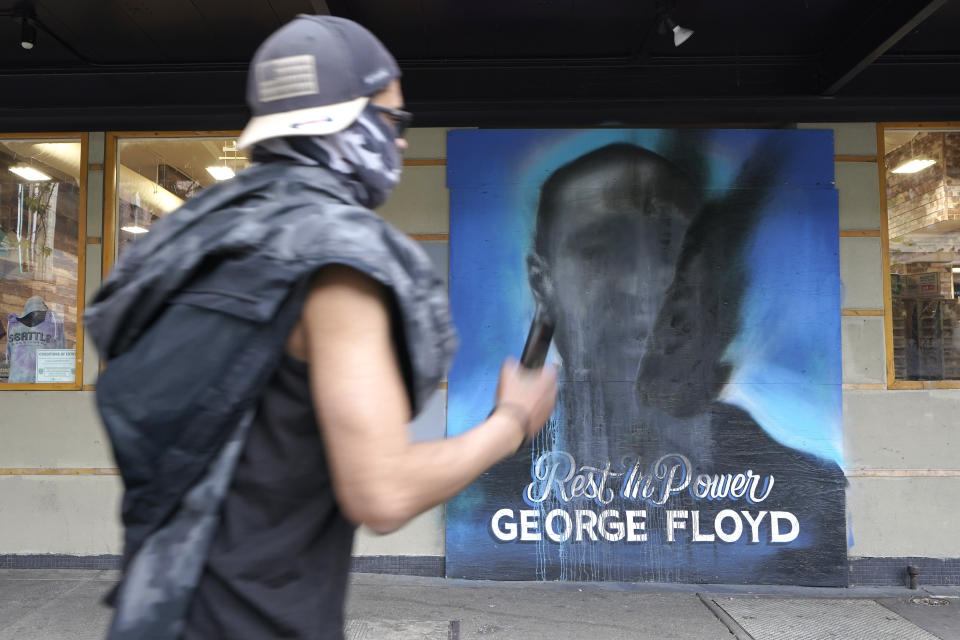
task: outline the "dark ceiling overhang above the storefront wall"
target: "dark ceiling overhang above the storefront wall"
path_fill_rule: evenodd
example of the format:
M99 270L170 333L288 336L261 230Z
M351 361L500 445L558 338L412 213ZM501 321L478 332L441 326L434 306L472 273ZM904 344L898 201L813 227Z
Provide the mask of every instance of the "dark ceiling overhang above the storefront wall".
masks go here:
M0 0L0 129L239 128L256 46L326 11L395 53L419 125L960 119L960 0Z

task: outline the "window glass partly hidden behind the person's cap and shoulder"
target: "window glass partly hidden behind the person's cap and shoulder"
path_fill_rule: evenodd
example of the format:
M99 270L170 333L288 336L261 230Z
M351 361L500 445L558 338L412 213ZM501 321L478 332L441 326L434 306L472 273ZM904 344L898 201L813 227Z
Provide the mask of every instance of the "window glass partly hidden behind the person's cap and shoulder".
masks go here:
M236 138L122 138L117 144L117 256L203 187L249 164Z

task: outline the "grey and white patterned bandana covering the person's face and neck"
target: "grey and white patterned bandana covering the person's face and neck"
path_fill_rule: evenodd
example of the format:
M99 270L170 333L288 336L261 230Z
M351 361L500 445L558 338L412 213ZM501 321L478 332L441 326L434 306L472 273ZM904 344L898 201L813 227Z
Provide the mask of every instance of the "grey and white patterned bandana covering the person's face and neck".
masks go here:
M320 165L336 174L363 206L374 209L400 180L396 131L368 104L353 124L328 136L269 138L253 148L254 162L277 159Z

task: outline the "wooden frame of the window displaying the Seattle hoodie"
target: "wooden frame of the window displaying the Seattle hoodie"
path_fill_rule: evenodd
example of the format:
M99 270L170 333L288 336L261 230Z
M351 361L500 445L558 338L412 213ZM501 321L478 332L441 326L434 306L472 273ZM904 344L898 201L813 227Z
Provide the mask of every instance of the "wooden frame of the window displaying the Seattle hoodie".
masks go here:
M0 391L80 391L83 389L83 311L86 306L87 244L87 177L90 172L90 134L86 131L42 133L0 133L0 140L72 140L80 141L80 176L77 211L77 334L74 348L73 382L0 383Z

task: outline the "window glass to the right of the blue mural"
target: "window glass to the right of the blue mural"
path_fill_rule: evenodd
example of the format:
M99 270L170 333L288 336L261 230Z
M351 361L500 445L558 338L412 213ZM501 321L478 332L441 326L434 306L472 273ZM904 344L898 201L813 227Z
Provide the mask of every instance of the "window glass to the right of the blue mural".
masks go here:
M897 380L960 380L960 131L884 131Z

